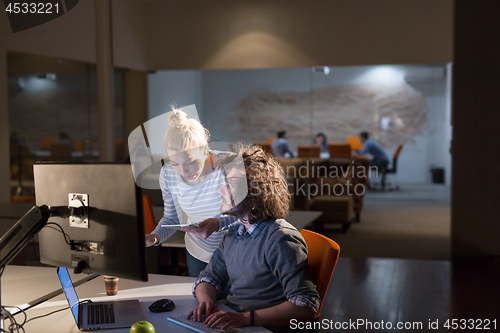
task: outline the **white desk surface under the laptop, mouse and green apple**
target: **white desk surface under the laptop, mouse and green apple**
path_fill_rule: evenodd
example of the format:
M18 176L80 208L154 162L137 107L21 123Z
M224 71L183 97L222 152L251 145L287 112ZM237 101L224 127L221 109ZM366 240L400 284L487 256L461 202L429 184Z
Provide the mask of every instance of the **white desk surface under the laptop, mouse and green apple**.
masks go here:
M191 294L191 288L194 281L195 278L155 274L149 275L148 282L120 279L118 283L118 294L116 296L106 296L104 278L100 276L77 287L76 291L80 300L91 298L95 302L119 299L139 299L144 313L144 319L153 324L156 332L188 333L193 331L168 322L167 317L171 315L186 315L196 307L196 299L194 299ZM3 305L23 304L36 297L40 297L41 294L60 288L55 268L46 267L7 266L1 282ZM164 313L150 312L148 306L160 298L172 299L176 305L175 309L172 312ZM68 303L64 295L59 295L28 310L26 313L29 319L67 306ZM219 304L219 309L229 310L229 308L222 304ZM18 314L16 319L22 321L23 315ZM26 333L80 332L69 309L33 320L27 323L24 328ZM99 330L97 332L129 333L130 329ZM269 331L263 327L244 327L240 332L253 333Z

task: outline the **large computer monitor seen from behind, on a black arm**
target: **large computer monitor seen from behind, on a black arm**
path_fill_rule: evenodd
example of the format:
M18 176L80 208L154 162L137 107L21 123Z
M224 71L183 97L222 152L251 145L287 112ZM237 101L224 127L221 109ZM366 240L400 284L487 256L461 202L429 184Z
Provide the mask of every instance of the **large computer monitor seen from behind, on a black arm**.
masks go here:
M36 163L34 176L37 206L88 207L85 216L49 218L71 247L61 232L43 228L42 263L147 281L142 192L130 164Z

